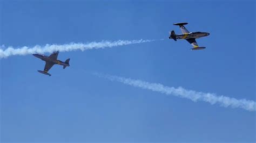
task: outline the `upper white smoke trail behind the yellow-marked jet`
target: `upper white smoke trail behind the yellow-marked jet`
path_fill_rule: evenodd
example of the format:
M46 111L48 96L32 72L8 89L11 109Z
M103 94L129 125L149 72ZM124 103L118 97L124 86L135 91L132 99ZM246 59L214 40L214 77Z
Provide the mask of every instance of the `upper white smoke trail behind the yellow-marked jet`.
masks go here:
M163 40L163 39L161 39ZM101 41L101 42L89 42L86 44L83 43L70 43L64 45L49 45L46 44L45 46L33 46L33 47L21 47L21 48L13 48L8 47L3 49L3 46L0 48L0 59L7 58L8 56L12 55L28 55L28 54L44 54L44 53L52 53L55 51L59 52L68 52L68 51L75 51L80 49L81 51L87 49L99 49L99 48L106 48L106 47L116 47L116 46L123 46L123 45L130 45L130 44L139 44L143 42L151 42L155 40L117 40L117 41Z

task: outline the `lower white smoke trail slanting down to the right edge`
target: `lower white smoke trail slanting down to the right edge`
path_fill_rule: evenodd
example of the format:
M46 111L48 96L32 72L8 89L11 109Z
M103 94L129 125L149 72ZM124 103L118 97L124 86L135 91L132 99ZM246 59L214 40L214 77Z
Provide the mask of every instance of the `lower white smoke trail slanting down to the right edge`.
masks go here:
M149 89L152 91L161 92L162 94L166 94L166 95L174 95L181 98L191 99L193 102L204 101L210 104L220 104L221 106L224 106L224 107L241 108L247 111L256 111L256 102L251 100L235 99L235 98L227 97L223 95L218 96L212 93L204 93L204 92L198 92L194 90L187 90L182 87L178 87L178 88L166 87L163 84L149 83L141 80L133 80L131 78L102 75L98 73L95 73L95 75L99 77L107 78L111 81L118 81L127 85L132 85L133 87Z

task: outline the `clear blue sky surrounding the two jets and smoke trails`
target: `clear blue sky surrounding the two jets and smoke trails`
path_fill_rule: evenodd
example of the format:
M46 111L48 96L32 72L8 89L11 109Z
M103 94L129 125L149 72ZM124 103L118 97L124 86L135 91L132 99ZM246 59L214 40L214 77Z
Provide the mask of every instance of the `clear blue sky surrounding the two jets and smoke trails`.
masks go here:
M255 112L166 96L88 74L137 78L169 87L255 101L255 2L1 1L0 44L34 46L102 40L162 39L59 53L70 67L32 55L1 67L1 141L255 142ZM188 42L168 39L211 33ZM50 53L48 53L50 54Z

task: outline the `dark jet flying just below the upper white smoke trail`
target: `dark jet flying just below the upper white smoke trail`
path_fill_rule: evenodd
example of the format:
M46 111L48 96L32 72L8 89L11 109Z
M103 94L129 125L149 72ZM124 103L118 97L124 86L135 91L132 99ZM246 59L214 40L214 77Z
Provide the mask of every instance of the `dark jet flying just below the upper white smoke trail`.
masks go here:
M45 56L45 55L41 55L41 54L33 54L33 56L36 56L36 58L39 58L39 59L45 61L44 71L42 71L42 70L37 70L37 71L39 73L51 76L51 74L49 74L48 71L51 69L51 67L53 65L55 65L55 64L62 65L63 69L66 67L69 67L70 59L67 59L65 62L57 60L58 54L59 54L58 51L53 52L50 56Z

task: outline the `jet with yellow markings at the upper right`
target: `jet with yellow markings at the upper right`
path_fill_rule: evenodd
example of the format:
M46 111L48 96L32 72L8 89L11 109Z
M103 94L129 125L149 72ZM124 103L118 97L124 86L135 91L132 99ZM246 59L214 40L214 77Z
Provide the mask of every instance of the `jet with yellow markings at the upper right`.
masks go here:
M170 32L169 39L173 39L174 41L177 41L177 39L185 39L187 40L193 48L191 50L197 50L197 49L205 49L205 47L199 47L197 45L197 38L200 37L206 37L207 35L210 35L210 33L207 32L188 32L188 30L184 27L188 23L174 23L173 25L178 25L180 27L180 30L182 34L175 34L174 30Z

